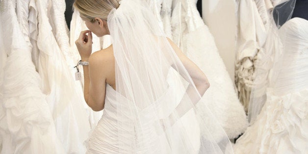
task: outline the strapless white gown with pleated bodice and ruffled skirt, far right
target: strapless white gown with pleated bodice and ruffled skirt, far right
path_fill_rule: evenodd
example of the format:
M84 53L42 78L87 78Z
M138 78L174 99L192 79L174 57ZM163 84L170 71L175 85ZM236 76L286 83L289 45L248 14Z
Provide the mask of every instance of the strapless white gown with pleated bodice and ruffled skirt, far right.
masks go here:
M308 21L293 18L279 29L266 102L237 140L238 154L306 154L308 151ZM279 38L277 38L279 40Z

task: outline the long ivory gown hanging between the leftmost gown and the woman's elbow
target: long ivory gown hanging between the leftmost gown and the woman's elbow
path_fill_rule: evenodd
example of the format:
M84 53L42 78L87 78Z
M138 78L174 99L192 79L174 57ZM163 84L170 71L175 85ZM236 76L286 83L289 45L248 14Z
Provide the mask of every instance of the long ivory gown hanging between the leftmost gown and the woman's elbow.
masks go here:
M90 131L83 96L75 88L75 79L52 33L48 18L49 0L37 0L39 74L47 95L57 136L66 153L85 153L84 141Z

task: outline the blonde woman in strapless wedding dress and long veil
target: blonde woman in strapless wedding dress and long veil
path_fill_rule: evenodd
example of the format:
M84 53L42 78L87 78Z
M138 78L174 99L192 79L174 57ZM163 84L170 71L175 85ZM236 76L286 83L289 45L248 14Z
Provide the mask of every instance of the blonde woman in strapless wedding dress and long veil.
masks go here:
M140 0L76 0L89 30L76 41L84 98L104 114L88 153L232 153L228 137L208 119L200 134L194 105L209 87L203 72L158 26ZM112 45L92 52L92 32ZM206 126L206 127L205 127Z

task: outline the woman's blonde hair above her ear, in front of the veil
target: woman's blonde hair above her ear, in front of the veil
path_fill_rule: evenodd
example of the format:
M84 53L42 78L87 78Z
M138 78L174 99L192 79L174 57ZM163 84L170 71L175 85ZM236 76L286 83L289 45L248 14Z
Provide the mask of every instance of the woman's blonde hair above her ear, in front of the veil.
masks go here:
M94 18L107 21L113 8L119 7L120 0L75 0L73 6L80 13L80 17L94 22Z

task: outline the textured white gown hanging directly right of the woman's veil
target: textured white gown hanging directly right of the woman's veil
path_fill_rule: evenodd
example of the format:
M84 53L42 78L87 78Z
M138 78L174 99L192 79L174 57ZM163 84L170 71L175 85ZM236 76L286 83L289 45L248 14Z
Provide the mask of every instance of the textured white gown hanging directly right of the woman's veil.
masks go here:
M237 99L231 78L221 59L214 38L204 24L196 0L178 0L172 13L173 41L207 76L210 87L198 103L198 115L204 117L207 106L217 117L229 138L235 138L248 126L243 106ZM168 23L164 24L168 26Z

